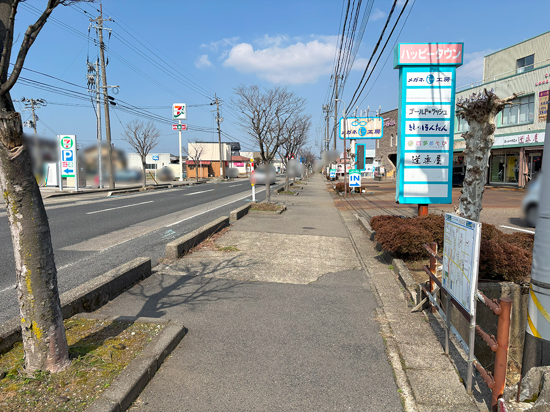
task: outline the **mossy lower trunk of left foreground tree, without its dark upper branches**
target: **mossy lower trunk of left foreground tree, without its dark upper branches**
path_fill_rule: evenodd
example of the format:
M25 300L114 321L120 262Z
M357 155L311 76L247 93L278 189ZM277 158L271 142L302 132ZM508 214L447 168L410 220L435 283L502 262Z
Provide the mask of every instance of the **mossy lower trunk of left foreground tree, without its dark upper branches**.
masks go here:
M57 372L70 365L50 225L19 113L0 113L0 187L8 213L17 272L25 369Z

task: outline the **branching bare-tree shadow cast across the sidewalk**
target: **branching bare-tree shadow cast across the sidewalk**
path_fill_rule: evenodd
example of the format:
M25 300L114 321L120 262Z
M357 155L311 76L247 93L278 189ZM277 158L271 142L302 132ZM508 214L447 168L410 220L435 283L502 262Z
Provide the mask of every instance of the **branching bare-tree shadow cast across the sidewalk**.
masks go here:
M195 310L202 305L218 300L245 298L246 296L240 292L240 288L253 282L213 277L217 271L243 272L248 270L249 264L244 264L236 258L225 259L217 263L195 264L194 273L171 267L169 273L158 271L151 275L149 281L141 282L126 292L144 300L136 316L162 318L168 314L170 308L185 307L186 310ZM178 261L181 262L183 259L185 257ZM177 279L174 281L175 276Z

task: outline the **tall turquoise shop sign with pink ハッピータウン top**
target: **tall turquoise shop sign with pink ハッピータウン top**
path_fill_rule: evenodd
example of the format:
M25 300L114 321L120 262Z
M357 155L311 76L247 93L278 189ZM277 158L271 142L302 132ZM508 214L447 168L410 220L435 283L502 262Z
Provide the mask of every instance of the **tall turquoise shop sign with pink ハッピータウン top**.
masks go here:
M463 43L400 43L395 201L451 203L456 68Z

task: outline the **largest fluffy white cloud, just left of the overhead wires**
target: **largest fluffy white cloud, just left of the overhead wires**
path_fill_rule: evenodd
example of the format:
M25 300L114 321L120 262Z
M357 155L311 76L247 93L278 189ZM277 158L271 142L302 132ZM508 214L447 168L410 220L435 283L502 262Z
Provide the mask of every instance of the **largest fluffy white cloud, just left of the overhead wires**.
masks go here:
M315 83L319 76L331 74L338 36L315 37L307 43L280 47L275 42L256 50L249 43L236 44L223 65L273 83Z

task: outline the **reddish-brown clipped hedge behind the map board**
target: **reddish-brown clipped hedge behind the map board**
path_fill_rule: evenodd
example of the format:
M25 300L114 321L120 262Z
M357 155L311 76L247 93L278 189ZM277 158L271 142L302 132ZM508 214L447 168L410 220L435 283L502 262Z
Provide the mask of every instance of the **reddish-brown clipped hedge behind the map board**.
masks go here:
M427 260L422 244L437 242L443 255L444 217L428 214L415 218L374 216L370 225L376 240L388 252L407 260ZM529 280L534 236L530 233L503 233L488 223L481 225L480 279L522 282Z

